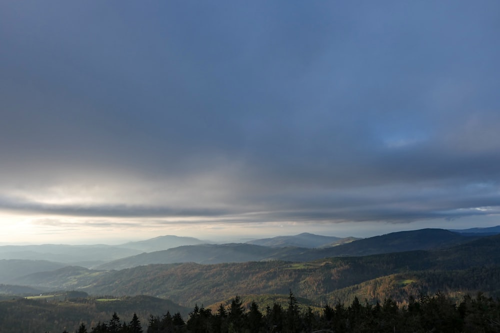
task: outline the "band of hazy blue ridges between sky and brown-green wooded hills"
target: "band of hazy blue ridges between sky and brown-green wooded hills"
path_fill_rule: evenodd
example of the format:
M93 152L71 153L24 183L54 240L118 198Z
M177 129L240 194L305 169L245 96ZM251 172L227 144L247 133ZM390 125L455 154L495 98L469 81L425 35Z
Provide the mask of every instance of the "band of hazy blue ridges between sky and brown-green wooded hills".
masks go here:
M16 283L18 277L65 266L121 270L149 264L184 262L217 264L269 260L310 261L327 257L438 249L495 232L500 233L500 226L453 231L422 229L365 239L303 233L222 245L204 244L205 241L192 237L166 235L117 246L0 246L0 284Z

